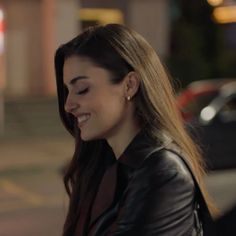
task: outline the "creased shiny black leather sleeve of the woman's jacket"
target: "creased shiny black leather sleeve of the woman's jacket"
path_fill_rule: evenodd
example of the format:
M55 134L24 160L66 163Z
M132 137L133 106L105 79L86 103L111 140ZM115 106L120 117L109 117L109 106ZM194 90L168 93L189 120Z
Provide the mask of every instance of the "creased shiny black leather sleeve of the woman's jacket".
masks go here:
M150 157L132 177L109 236L188 236L194 182L179 157Z

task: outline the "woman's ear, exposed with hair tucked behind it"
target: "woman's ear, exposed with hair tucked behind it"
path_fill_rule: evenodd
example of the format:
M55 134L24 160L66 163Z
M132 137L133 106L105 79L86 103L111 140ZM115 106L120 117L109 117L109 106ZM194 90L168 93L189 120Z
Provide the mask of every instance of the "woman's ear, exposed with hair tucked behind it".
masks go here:
M140 85L138 74L135 71L129 72L124 78L125 97L132 97L137 93Z

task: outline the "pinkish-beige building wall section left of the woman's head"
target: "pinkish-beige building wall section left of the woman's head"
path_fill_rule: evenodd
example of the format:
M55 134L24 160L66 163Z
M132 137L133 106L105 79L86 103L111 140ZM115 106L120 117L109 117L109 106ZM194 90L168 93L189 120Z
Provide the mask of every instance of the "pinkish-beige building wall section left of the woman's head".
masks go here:
M4 47L0 61L4 95L54 94L54 52L80 30L78 2L0 0L0 8L4 14Z

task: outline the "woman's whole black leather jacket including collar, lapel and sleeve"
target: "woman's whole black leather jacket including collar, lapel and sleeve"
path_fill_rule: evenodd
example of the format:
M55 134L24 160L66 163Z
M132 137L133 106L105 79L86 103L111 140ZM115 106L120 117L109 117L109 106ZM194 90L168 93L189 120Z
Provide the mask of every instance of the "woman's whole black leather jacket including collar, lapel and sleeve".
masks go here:
M171 146L151 144L142 132L134 138L105 172L84 235L197 235L194 181Z

